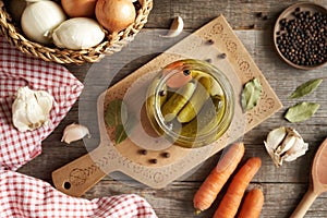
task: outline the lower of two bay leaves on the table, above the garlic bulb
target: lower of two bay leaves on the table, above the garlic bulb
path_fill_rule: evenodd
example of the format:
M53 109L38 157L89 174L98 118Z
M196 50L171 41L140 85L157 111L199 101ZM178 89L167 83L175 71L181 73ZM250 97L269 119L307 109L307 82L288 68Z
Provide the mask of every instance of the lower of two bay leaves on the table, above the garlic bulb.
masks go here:
M292 123L302 122L311 118L319 107L315 102L299 102L288 109L284 118Z

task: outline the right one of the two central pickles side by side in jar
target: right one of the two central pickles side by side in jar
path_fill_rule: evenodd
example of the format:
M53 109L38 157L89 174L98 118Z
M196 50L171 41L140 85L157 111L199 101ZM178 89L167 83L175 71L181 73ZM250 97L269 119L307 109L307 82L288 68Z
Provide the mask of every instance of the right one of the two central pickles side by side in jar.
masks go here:
M198 78L199 77L199 78ZM197 87L187 104L178 113L178 121L186 123L193 120L209 98L211 80L207 76L196 76Z

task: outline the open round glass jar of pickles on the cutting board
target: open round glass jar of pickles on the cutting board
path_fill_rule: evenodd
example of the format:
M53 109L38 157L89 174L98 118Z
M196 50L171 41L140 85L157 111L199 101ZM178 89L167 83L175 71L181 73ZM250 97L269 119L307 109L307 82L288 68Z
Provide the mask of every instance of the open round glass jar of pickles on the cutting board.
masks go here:
M234 113L233 88L213 64L179 60L153 80L146 112L155 131L172 144L202 147L228 130Z

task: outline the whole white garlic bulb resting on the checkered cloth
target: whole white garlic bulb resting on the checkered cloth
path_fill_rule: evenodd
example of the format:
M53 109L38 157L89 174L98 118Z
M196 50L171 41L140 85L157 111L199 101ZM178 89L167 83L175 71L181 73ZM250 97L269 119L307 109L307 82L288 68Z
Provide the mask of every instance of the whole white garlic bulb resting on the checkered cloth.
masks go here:
M53 97L45 90L20 87L12 106L13 125L20 131L33 131L49 123Z

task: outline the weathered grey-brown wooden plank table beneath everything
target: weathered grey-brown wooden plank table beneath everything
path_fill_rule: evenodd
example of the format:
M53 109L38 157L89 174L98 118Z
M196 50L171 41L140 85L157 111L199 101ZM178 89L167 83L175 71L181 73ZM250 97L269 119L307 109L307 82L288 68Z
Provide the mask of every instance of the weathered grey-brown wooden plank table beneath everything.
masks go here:
M327 65L312 71L301 71L287 65L279 59L271 40L274 23L278 14L296 1L208 1L208 0L160 0L154 2L154 9L148 17L145 29L167 29L172 19L180 15L184 20L185 31L192 33L219 14L223 14L235 34L240 37L258 68L283 104L283 109L243 136L245 144L244 159L258 156L263 160L259 172L253 179L250 187L262 186L265 193L265 205L262 217L289 217L308 186L311 162L318 145L327 136L327 81L313 94L304 97L320 104L320 109L310 120L302 123L289 123L283 119L288 107L296 100L289 100L289 94L300 84L310 78L327 78ZM326 0L317 0L327 7ZM263 13L262 17L256 14ZM128 65L126 72L140 68L154 58L143 57L135 64ZM66 65L82 82L92 64ZM121 74L117 81L125 76ZM57 168L87 153L83 141L66 145L61 143L63 129L78 122L78 102L74 105L61 124L44 141L43 154L22 167L19 171L51 183L51 172ZM305 156L294 162L286 162L276 168L265 150L264 140L267 133L278 126L295 128L310 144ZM174 181L162 190L135 187L106 177L83 197L94 198L120 193L136 193L144 196L154 207L158 217L193 217L193 195L209 171L219 160L220 153L206 160L198 170L189 178ZM198 217L211 217L221 199L220 194L214 205ZM327 217L327 194L320 195L306 217Z

